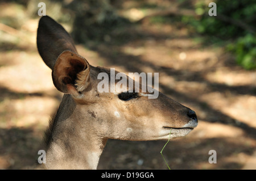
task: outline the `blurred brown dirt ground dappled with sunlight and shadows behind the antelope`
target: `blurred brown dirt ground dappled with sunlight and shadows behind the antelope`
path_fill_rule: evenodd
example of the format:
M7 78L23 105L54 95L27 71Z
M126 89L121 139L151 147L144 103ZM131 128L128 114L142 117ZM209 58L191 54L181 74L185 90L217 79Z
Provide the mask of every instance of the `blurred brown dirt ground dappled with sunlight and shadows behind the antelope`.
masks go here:
M0 18L16 16L8 11L15 7L1 4ZM38 20L23 20L17 32L0 30L0 169L34 165L62 97L36 49ZM171 169L256 169L255 70L242 69L222 47L196 41L186 27L146 21L126 31L136 38L77 50L94 66L158 72L159 90L196 111L198 127L163 150ZM164 144L109 140L98 169L168 169ZM217 163L209 163L210 150Z

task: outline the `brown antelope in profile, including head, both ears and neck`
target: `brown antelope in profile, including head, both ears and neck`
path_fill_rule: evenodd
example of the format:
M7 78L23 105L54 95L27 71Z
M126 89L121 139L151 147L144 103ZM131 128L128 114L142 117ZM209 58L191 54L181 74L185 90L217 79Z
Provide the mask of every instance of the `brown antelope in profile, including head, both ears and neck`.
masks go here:
M47 168L67 168L60 166L67 164L60 159L70 155L72 159L66 162L72 162L73 168L96 169L109 138L161 140L169 135L185 136L197 126L194 111L160 92L158 98L148 99L151 92L133 92L129 88L98 91L98 74L110 76L110 69L90 65L77 53L69 33L49 16L39 21L37 45L43 61L52 69L53 84L64 93L48 135ZM134 83L129 77L127 80ZM76 160L75 155L82 157L83 152L87 157L81 159L87 161L71 161ZM91 161L94 157L96 161Z

